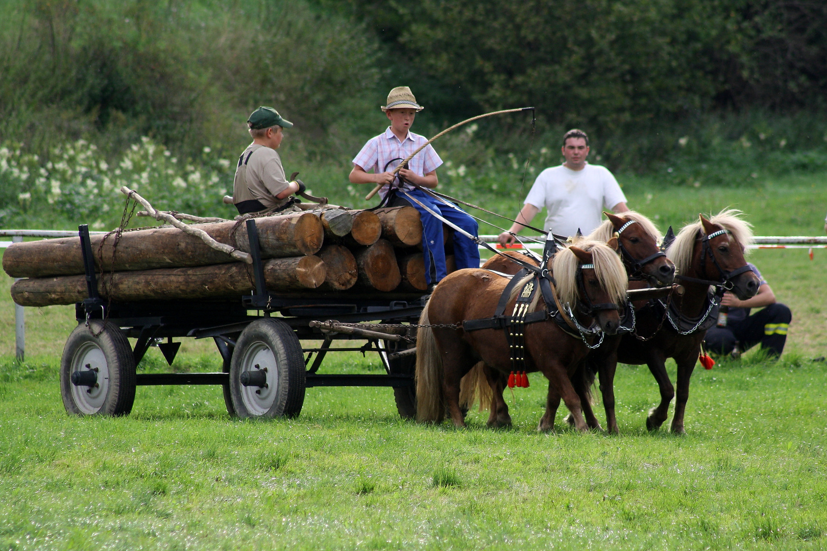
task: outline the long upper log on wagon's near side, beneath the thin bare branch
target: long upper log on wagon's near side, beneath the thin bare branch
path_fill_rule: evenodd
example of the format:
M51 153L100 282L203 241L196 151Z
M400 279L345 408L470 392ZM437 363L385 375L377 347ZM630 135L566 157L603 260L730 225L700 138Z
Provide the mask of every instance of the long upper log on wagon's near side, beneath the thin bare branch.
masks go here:
M237 249L249 252L244 223L228 221L196 227L212 235L213 239L219 242L237 245ZM315 254L322 247L322 221L309 212L263 216L256 218L256 227L261 255L265 259ZM222 251L205 245L197 236L185 234L177 228L124 232L117 243L117 250L112 247L115 241L114 234L93 235L91 241L95 266L104 272L112 269L122 272L235 262ZM16 243L6 249L2 266L14 278L43 278L84 273L80 239L66 237Z

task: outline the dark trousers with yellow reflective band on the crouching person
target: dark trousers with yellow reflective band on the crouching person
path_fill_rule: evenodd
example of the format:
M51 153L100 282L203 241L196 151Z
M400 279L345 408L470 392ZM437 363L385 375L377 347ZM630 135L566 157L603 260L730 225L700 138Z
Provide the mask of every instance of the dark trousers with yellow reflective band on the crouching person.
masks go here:
M743 321L729 321L726 327L713 327L706 331L704 344L715 354L729 354L735 343L746 351L758 343L771 356L780 356L786 342L786 330L792 320L792 313L779 302L771 304L747 316Z

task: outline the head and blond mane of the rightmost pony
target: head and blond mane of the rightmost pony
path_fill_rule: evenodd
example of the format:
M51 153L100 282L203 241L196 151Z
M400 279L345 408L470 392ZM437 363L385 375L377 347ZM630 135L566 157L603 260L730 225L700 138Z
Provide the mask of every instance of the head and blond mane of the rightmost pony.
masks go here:
M677 273L724 283L742 301L754 297L759 282L752 271L729 275L747 264L744 254L753 242L752 225L742 214L724 209L708 220L699 215L698 221L681 228L667 249Z

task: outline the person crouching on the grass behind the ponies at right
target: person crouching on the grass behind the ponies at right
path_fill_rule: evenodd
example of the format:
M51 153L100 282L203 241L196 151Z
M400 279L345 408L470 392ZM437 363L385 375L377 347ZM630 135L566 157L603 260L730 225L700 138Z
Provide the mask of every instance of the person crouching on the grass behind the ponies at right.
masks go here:
M776 302L772 288L764 281L758 268L753 264L749 266L761 282L758 294L746 301L739 301L733 293L724 292L721 306L729 308L725 316L726 325L708 330L704 344L714 354L739 354L760 343L762 350L777 358L784 349L792 313L786 305ZM751 308L762 307L762 310L749 315Z

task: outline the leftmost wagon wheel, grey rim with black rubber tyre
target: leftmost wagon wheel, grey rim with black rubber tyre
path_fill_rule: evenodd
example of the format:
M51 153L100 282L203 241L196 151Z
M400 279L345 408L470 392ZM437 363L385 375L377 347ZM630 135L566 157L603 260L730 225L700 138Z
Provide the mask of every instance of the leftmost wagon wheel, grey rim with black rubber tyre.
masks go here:
M135 381L135 358L120 328L99 320L74 328L60 358L60 397L68 413L126 415Z

